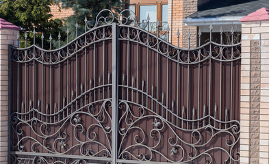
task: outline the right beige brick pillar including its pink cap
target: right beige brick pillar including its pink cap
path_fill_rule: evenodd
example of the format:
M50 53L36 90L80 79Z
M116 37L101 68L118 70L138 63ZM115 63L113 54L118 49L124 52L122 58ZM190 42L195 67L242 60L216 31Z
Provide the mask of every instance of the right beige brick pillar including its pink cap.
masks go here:
M269 163L269 10L242 21L240 163Z

